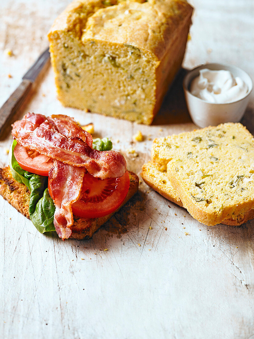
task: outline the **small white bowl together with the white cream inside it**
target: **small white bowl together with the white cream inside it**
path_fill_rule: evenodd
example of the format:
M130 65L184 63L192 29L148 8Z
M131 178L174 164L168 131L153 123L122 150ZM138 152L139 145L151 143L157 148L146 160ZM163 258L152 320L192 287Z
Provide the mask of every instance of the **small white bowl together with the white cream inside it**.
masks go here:
M198 66L183 80L188 111L200 127L240 121L252 87L252 80L243 69L220 63Z

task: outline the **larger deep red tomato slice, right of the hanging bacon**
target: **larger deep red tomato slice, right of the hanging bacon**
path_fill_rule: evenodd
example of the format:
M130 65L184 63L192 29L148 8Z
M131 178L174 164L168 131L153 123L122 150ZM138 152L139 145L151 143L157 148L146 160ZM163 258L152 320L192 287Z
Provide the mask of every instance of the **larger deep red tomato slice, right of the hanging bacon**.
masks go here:
M122 204L130 187L129 173L120 178L101 180L85 173L82 192L78 201L72 204L72 213L80 218L104 217ZM48 191L52 198L50 183Z

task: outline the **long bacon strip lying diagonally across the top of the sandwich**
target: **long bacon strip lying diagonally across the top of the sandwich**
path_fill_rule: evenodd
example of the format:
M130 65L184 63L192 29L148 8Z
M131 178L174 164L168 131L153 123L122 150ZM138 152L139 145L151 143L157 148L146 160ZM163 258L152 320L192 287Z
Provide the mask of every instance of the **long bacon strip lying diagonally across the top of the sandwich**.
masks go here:
M27 113L12 126L12 135L23 147L72 166L84 166L96 178L117 178L126 172L121 153L97 151L79 137L66 137L41 114Z

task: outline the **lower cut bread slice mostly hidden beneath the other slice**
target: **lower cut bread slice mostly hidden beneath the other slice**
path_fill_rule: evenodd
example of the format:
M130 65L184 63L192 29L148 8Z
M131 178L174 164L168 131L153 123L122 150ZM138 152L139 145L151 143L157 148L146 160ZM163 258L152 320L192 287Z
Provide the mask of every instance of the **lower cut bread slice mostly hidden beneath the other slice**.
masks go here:
M176 191L174 190L173 186L171 185L167 177L167 172L160 171L155 164L153 164L152 162L148 162L147 164L143 165L142 172L140 175L148 186L152 187L164 198L183 207L182 201L177 196ZM222 224L230 226L239 226L253 218L254 218L254 209L250 210L245 214L237 215L235 217L233 215L231 218L224 219L222 221Z

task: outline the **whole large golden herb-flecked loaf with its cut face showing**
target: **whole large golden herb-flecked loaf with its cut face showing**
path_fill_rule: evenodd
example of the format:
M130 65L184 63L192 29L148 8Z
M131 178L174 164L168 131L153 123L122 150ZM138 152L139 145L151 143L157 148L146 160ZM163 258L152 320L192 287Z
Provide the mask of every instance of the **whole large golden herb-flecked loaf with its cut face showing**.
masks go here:
M184 57L185 0L78 0L48 34L59 100L151 124Z

